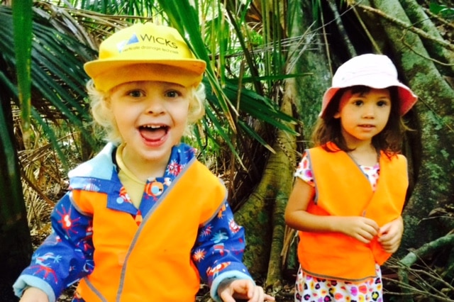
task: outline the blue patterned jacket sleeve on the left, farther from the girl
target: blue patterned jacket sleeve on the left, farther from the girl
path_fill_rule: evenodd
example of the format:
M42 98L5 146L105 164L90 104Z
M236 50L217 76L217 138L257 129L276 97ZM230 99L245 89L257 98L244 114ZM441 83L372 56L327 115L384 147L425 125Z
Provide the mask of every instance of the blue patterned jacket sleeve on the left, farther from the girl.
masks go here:
M50 219L52 233L13 284L16 296L33 286L45 291L49 301L56 301L63 290L93 270L92 218L74 208L71 192L55 205Z

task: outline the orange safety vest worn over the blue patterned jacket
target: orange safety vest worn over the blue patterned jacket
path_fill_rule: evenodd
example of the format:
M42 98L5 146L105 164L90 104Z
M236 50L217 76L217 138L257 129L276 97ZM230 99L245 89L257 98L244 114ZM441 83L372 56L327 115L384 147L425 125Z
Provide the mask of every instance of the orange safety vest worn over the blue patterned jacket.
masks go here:
M226 188L198 161L188 164L138 226L106 207L107 196L73 191L93 215L94 270L76 295L85 301L195 301L200 277L191 250L201 225L221 207Z

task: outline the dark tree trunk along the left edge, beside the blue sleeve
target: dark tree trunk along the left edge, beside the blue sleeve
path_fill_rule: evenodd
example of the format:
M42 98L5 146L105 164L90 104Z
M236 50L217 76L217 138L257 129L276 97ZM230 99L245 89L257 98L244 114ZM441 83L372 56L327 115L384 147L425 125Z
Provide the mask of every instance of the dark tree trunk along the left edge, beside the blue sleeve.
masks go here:
M7 91L2 87L0 91ZM0 93L0 301L18 301L12 285L30 263L32 245L14 147L9 97Z

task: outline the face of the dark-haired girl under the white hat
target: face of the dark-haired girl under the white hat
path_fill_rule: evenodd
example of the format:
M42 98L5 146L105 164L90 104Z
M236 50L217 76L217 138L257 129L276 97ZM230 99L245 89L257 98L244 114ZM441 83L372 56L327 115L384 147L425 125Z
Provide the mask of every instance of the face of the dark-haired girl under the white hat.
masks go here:
M351 89L341 97L334 118L341 119L341 132L347 145L355 147L372 138L386 126L391 112L388 89L369 89L352 93Z

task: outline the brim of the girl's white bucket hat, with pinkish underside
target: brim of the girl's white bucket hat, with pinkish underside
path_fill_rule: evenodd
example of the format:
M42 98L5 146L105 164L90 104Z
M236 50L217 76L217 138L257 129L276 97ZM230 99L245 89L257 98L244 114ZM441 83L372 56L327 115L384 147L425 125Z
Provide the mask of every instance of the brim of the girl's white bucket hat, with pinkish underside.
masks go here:
M331 102L331 99L333 99L333 96L336 94L336 92L339 89L350 87L350 86L368 86L373 89L385 89L389 88L392 86L396 86L398 93L399 93L399 100L401 102L400 105L400 114L403 116L405 113L407 113L411 107L414 106L416 101L418 101L418 96L416 96L411 89L409 89L408 86L405 86L404 84L400 82L396 82L395 80L392 81L377 81L377 77L373 77L373 79L367 80L365 79L363 82L367 84L358 84L358 82L355 83L345 83L345 85L342 86L332 86L328 90L326 90L325 94L323 94L323 99L321 102L321 111L319 116L323 117L323 114L326 111L326 107L328 107L328 104ZM370 84L373 83L373 84Z

